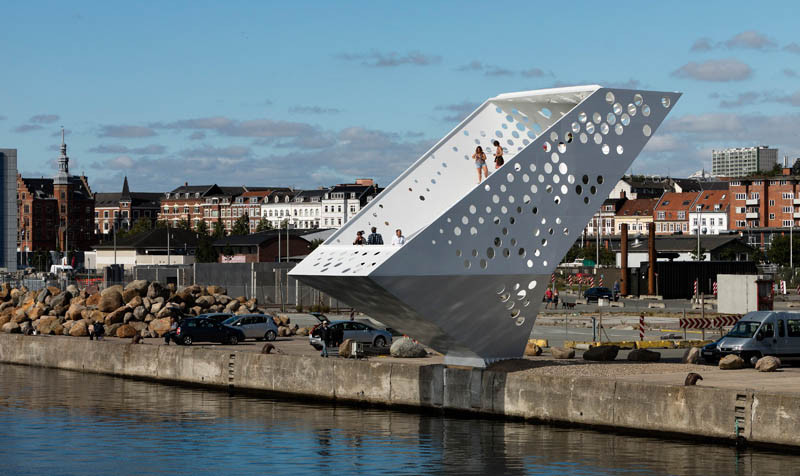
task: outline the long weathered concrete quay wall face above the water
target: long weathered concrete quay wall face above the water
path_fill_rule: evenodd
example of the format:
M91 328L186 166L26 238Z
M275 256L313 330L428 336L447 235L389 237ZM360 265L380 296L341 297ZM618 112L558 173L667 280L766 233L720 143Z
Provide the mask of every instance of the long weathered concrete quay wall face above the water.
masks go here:
M0 362L120 377L800 446L800 395L200 347L0 335Z

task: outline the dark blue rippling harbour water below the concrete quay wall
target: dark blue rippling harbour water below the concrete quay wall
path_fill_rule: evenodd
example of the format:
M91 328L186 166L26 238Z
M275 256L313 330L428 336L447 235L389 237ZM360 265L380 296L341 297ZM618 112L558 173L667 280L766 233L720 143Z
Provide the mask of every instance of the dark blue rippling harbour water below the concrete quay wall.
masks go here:
M0 365L1 473L793 474L800 458Z

